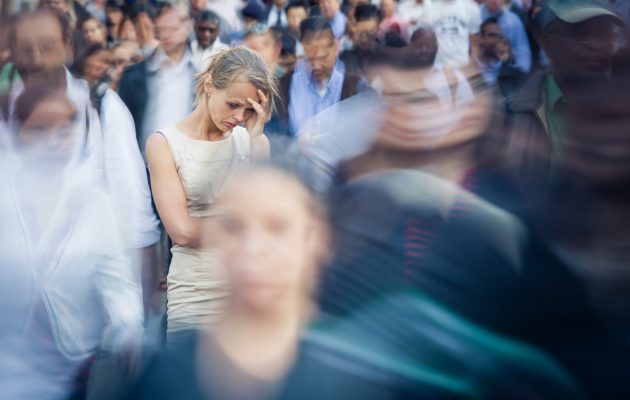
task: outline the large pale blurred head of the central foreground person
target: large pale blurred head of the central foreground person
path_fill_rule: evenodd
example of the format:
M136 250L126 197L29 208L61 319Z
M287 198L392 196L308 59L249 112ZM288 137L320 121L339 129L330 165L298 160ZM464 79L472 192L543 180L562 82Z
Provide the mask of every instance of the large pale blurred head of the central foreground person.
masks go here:
M304 185L288 172L259 167L237 173L216 204L232 310L305 313L327 232Z

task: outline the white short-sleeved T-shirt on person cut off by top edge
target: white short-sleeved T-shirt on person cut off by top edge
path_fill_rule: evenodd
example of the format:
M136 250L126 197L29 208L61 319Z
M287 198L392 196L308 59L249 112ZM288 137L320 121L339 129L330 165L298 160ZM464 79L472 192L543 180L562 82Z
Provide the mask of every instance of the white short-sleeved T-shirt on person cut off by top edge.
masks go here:
M476 59L481 13L474 1L433 0L425 5L420 26L437 36L437 64L459 68Z

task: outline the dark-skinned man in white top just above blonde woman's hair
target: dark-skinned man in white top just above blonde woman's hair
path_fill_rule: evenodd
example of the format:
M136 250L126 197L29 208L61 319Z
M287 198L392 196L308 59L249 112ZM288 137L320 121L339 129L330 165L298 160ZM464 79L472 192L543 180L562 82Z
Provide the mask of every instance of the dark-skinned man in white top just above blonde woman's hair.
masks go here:
M212 11L201 11L195 17L195 37L191 44L192 63L198 72L205 71L210 57L228 47L221 42L221 18Z

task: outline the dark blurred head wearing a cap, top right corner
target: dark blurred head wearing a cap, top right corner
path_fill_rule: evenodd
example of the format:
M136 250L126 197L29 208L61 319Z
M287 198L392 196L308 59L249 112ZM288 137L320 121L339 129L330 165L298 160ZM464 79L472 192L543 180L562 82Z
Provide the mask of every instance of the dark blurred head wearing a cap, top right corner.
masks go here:
M608 72L622 22L605 3L549 0L537 10L533 33L557 79Z

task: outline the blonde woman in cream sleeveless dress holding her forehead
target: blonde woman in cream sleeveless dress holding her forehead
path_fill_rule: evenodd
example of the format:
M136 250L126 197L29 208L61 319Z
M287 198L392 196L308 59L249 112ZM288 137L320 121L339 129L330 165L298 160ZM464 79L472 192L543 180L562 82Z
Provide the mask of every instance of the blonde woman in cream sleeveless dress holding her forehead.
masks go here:
M168 273L169 344L216 319L228 293L216 249L201 248L204 220L239 163L269 156L263 127L277 93L264 61L244 47L213 56L197 77L196 108L151 135L146 153L153 197L174 243Z

